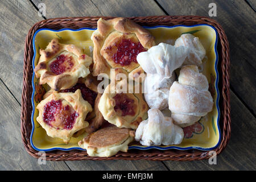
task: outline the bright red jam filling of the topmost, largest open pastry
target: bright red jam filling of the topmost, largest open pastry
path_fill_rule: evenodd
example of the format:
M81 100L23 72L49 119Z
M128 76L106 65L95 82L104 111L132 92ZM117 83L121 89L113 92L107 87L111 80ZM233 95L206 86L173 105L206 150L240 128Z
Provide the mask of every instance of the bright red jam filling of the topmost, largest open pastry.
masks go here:
M122 39L117 45L117 52L112 56L116 64L130 65L131 62L137 62L137 55L140 52L147 51L141 43L134 43L130 39Z

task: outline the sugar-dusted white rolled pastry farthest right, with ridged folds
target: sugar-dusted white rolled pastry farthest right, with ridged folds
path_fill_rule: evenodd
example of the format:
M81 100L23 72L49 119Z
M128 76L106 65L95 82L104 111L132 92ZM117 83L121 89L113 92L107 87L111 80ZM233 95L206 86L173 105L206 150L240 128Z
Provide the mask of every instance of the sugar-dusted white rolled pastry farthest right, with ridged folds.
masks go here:
M199 73L196 65L183 66L178 80L170 88L168 104L174 123L186 127L212 110L213 98L207 77Z

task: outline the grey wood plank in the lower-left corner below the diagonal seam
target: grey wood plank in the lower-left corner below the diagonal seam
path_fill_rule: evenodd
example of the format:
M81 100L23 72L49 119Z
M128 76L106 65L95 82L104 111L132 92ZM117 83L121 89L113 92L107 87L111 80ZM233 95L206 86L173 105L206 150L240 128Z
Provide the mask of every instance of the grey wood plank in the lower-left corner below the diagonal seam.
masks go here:
M20 137L20 105L0 80L0 170L69 170L65 162L38 164Z

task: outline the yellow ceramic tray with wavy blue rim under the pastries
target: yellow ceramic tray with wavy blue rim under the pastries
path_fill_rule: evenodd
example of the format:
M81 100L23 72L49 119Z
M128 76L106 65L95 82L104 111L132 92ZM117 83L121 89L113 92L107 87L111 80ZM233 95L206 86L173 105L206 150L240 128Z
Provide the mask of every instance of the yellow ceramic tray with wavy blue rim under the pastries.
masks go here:
M209 82L209 90L213 96L214 107L213 110L207 114L206 117L200 119L195 125L184 128L184 139L179 145L171 146L139 146L131 145L131 148L137 148L139 150L147 150L150 148L158 148L159 150L168 150L170 148L176 148L178 150L189 150L196 148L199 150L213 150L220 143L220 108L218 106L219 92L218 92L218 55L217 55L217 31L214 27L208 24L199 24L195 26L155 26L144 27L155 37L156 44L160 42L174 44L175 40L179 38L184 32L190 32L193 35L199 37L200 42L203 44L206 50L206 59L204 62L203 74L207 77ZM36 31L33 38L34 57L33 57L33 69L38 63L39 49L46 48L49 42L53 38L58 38L60 43L75 44L76 46L84 49L87 55L92 56L93 43L90 39L93 31L92 28L81 28L79 30L62 29L62 30L50 30L47 28ZM57 138L48 137L46 131L36 121L38 117L38 110L36 105L42 100L43 94L49 89L47 85L39 85L39 79L35 77L33 73L32 77L32 132L30 137L31 146L38 151L51 151L51 150L73 150L80 148L77 144L79 140L85 137L86 133L80 137L71 138L68 144L64 144L63 140Z

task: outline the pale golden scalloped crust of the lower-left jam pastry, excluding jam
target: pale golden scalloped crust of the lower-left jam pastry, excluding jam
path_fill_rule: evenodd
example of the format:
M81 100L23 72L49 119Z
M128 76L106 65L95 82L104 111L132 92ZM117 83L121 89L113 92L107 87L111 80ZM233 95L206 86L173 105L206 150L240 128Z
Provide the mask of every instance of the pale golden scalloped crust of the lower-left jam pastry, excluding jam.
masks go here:
M89 125L89 123L85 121L85 118L86 115L92 111L92 106L89 104L89 102L82 98L80 90L76 90L75 93L58 93L52 90L49 93L51 94L49 94L48 97L42 100L38 106L36 106L36 109L39 110L39 115L36 118L36 121L38 121L43 129L46 130L49 137L61 138L63 139L64 143L68 143L76 131L79 131ZM78 116L75 119L75 123L73 123L72 129L63 128L63 123L61 123L60 119L58 119L58 115L55 115L55 121L53 121L54 123L52 123L52 125L48 125L46 122L44 122L44 106L52 100L60 100L63 106L69 105L72 110L76 111Z

